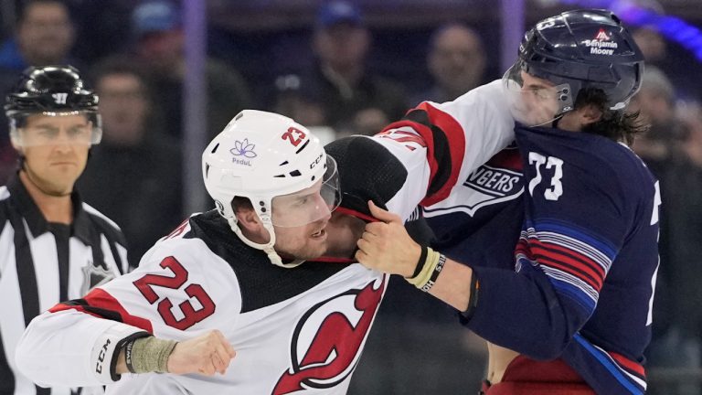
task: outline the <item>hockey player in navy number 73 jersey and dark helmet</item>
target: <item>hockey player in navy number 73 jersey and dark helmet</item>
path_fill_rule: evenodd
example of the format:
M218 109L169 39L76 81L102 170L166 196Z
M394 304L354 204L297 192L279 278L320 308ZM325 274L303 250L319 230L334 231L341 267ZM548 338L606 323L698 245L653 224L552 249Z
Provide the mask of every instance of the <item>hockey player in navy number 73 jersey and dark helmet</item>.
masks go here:
M436 251L369 204L383 222L367 225L356 259L452 305L487 340L485 394L645 391L660 197L624 112L642 71L611 13L545 19L504 78L516 147L424 205ZM451 145L435 147L438 173L454 173Z

